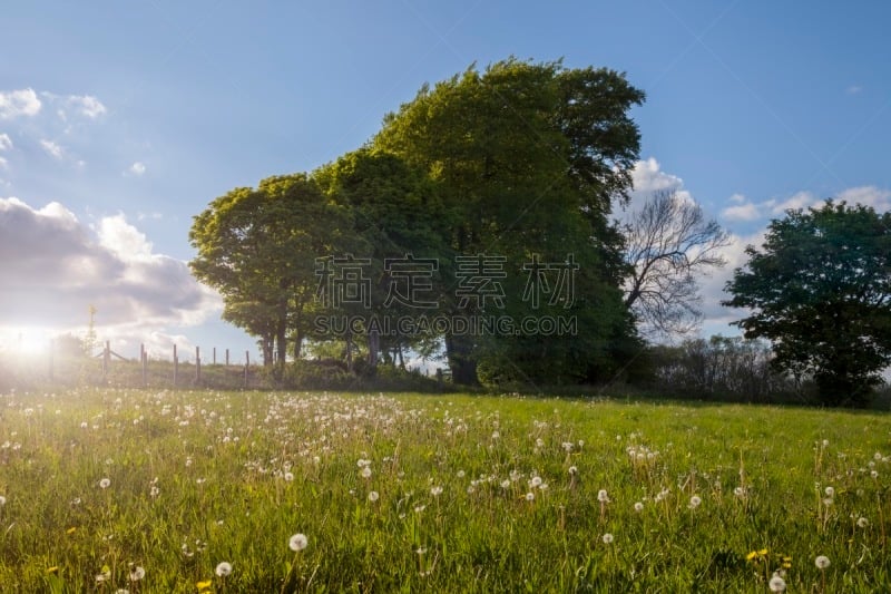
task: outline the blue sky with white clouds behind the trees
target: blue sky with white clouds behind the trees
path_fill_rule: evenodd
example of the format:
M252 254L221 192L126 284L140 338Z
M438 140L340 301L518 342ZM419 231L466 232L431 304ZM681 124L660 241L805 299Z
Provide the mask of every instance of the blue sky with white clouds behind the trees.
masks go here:
M891 207L891 4L14 2L0 14L0 349L251 351L187 262L232 188L359 148L424 84L509 56L624 71L646 103L635 203L670 188L733 237L703 335L772 218ZM3 347L6 344L6 347ZM234 359L243 354L234 356Z

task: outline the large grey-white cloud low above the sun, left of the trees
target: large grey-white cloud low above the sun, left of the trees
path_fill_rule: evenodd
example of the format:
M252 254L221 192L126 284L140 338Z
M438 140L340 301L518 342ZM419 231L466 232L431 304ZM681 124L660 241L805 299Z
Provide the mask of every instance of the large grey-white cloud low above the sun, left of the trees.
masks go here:
M90 304L100 335L194 325L222 310L185 262L153 252L123 215L94 232L59 203L36 210L0 198L0 327L81 329Z

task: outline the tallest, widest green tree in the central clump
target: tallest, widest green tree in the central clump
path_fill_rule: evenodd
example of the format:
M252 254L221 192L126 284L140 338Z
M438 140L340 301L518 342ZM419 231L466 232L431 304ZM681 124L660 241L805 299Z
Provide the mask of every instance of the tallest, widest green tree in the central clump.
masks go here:
M639 133L628 111L643 100L643 91L613 70L511 58L425 86L385 118L373 146L440 184L446 210L457 216L448 234L456 254L506 259L506 300L522 295L522 281L516 279L522 279L533 256L559 263L577 254L584 270L572 303L587 322L578 335L560 342L556 337L447 333L456 382L476 382L481 358L521 368L544 357L559 367L557 358L566 361L572 349L571 357L582 352L588 361L600 360L610 344L627 337L618 289L626 272L623 237L609 215L630 188ZM454 279L454 286L461 282ZM505 300L468 303L451 296L447 306L452 317L510 308ZM509 313L521 314L521 305L516 308ZM586 362L579 364L582 369L574 373L586 376Z

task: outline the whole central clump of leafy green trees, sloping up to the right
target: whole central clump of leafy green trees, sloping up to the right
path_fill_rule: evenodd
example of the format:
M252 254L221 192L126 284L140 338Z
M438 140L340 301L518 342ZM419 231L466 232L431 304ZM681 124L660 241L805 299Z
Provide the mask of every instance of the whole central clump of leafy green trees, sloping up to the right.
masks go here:
M628 199L640 142L629 110L643 100L609 69L471 66L424 86L366 146L212 202L189 235L193 271L221 291L224 318L261 339L267 362L273 352L284 361L288 342L298 357L306 338L345 340L351 358L359 340L373 368L379 352L421 348L423 337L356 337L310 319L430 314L446 323L425 337L444 342L457 383L476 383L479 364L521 381L610 377L637 340L610 214ZM362 299L319 299L347 276ZM422 301L407 299L418 289ZM478 331L476 318L496 328Z

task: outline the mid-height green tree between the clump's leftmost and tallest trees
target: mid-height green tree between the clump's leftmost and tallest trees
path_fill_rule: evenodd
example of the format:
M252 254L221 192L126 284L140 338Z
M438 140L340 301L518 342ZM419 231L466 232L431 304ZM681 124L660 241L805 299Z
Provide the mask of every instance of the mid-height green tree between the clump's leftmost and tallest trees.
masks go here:
M400 333L398 320L429 314L429 304L446 292L443 273L452 256L447 236L454 221L439 184L391 153L369 147L347 153L313 172L313 179L349 210L352 232L366 245L355 255L369 261L370 305L354 313L388 322L383 332L374 325L365 332L373 372L379 353L401 356L435 338Z

